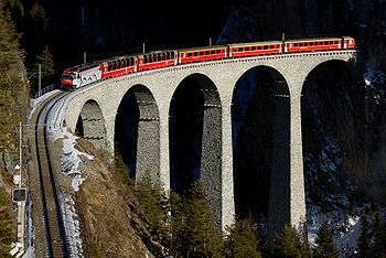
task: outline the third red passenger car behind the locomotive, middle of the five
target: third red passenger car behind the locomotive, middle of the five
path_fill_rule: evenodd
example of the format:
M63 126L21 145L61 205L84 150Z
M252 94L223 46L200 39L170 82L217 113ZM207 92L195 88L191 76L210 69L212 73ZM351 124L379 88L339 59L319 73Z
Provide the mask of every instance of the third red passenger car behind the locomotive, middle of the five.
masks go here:
M193 62L215 61L227 57L227 46L206 46L199 49L180 50L180 64Z

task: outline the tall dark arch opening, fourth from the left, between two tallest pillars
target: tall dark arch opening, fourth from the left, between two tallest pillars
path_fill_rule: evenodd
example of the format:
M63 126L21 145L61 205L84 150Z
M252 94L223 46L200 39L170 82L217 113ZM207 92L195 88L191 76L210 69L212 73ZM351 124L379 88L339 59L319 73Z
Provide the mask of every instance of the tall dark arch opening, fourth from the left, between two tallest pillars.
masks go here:
M276 230L290 219L290 93L285 76L255 66L232 100L235 212Z

